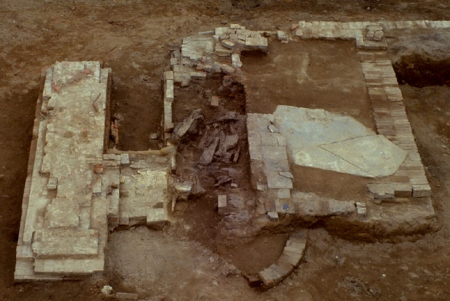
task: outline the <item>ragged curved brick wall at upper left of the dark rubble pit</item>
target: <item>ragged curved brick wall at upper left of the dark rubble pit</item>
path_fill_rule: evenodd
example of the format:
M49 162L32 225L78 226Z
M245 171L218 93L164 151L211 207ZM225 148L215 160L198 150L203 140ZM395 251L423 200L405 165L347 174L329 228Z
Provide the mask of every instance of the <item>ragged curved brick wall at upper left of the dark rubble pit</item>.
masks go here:
M171 53L170 71L164 73L164 141L171 138L174 128L172 103L174 84L188 86L191 80L205 79L208 74L233 74L241 66L242 51L268 51L267 38L260 32L247 30L244 26L231 24L213 31L199 32L183 39L180 49ZM221 63L217 57L229 58Z

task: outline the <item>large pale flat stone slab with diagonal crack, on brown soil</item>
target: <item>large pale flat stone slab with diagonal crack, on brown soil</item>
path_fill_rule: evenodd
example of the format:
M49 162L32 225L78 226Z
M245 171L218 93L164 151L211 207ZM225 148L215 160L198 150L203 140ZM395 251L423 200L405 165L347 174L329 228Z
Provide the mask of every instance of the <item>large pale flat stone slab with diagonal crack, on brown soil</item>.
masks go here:
M394 174L406 158L404 150L349 116L291 106L278 106L273 115L297 165L375 178Z

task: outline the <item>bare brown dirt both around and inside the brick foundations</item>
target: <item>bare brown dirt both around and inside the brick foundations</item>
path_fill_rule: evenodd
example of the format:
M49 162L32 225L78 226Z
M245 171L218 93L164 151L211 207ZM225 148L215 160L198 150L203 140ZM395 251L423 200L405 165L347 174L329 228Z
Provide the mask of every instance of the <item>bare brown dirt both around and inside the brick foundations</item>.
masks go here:
M111 116L120 128L117 147L160 149L162 139L151 134L161 130L161 79L170 51L181 45L182 38L232 23L250 30L288 32L300 20L450 20L450 4L436 0L3 0L0 20L0 300L104 300L104 285L155 301L450 300L448 28L391 31L386 37L433 192L437 220L426 231L362 241L354 238L354 232L336 233L330 225L325 229L316 224L309 230L298 269L267 291L251 288L236 268L250 274L266 268L279 257L288 235L286 231L260 233L239 249L218 244L221 217L215 211L216 196L233 188L234 182L215 185L226 176L205 176L215 171L214 165L197 170L210 193L179 202L169 227L162 231L119 228L109 234L104 277L14 284L36 99L41 72L49 65L63 60L102 61L112 69ZM324 108L345 112L375 130L354 41L300 40L284 45L272 38L269 43L273 48L265 56L241 56L243 72L255 75L246 82L247 93L257 95L260 102L249 98L245 105L241 86L221 90L222 77L207 79L201 85L175 89L176 98L191 101L174 103L174 122L196 108L202 109L206 121L214 120L215 110L205 103L211 95L219 95L225 99L225 109L238 114L272 114L280 104ZM308 74L302 73L306 65ZM276 73L289 80L267 76ZM257 86L258 82L267 84ZM285 97L277 99L280 91ZM302 93L300 100L298 93ZM239 132L239 118L234 121L237 130L230 124L215 126ZM201 154L194 142L202 143L201 137L179 150L180 162ZM241 153L248 154L247 144L239 143ZM249 165L243 155L238 164L221 165L242 194L250 189ZM187 165L181 167L185 168L179 168L181 174L192 171ZM302 178L305 173L309 177ZM338 200L366 194L365 178L330 173L308 167L292 170L301 179L295 188L302 191ZM334 180L323 183L325 175Z

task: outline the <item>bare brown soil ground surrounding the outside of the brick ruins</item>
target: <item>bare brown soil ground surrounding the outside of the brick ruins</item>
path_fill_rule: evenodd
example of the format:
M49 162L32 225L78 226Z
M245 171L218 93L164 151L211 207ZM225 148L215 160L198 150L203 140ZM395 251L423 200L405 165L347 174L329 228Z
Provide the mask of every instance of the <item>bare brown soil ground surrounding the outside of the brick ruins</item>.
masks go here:
M450 5L437 0L2 1L0 299L99 300L105 283L89 279L13 284L34 108L40 72L45 66L67 59L101 60L111 67L112 109L119 113L116 118L121 122L120 147L141 150L157 147L148 136L160 126L161 74L171 45L179 44L182 37L222 22L240 23L250 29L273 30L279 26L286 30L289 23L299 19L449 18ZM187 241L180 242L177 231L177 239L167 243L170 233L166 237L146 229L117 232L111 235L110 252L117 254L117 261L109 263L113 266L111 283L124 290L137 288L143 297L164 296L166 300L449 300L450 92L448 87L404 86L402 90L434 192L440 226L437 232L416 237L417 241L405 238L397 244L365 244L313 229L304 264L282 285L266 293L250 289L241 277L217 273L214 268L223 266L217 264L219 259L196 242L204 236L186 235ZM195 206L200 204L188 207L186 212L195 214ZM205 212L214 218L212 210ZM211 231L207 223L200 224L203 231ZM137 247L139 240L155 245ZM118 241L127 242L128 248L121 249L125 244L117 245ZM125 254L123 250L129 256L120 257ZM159 254L156 259L163 260L152 260L152 254ZM133 258L136 260L130 262ZM143 269L140 262L151 268ZM189 273L194 267L201 276L191 281ZM152 273L164 281L150 277Z

